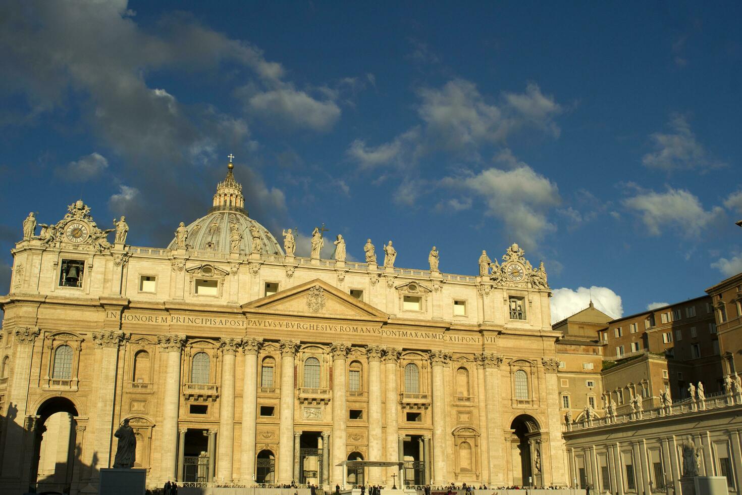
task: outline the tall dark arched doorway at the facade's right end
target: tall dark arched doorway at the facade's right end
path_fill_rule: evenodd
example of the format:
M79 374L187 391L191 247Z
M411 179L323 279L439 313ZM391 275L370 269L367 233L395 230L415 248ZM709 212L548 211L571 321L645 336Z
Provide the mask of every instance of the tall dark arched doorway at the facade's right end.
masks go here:
M510 423L513 485L542 486L541 427L533 416L521 414Z

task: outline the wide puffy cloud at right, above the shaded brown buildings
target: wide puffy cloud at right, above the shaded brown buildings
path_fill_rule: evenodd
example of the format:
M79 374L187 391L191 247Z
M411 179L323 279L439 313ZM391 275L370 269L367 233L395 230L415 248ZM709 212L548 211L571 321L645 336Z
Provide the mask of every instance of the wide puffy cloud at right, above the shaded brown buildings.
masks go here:
M668 188L666 192L639 190L622 201L623 206L637 213L650 235L660 235L663 229L675 229L686 237L700 231L723 216L719 206L706 211L698 198L685 189Z

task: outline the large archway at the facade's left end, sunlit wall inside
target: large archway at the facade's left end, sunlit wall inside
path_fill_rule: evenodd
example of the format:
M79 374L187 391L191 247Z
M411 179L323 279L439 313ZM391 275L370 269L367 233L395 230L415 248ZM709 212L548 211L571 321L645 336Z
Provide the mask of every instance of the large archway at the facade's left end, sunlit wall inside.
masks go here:
M76 449L75 404L65 397L45 400L36 412L29 479L37 491L70 488L82 452ZM79 473L78 473L79 476Z

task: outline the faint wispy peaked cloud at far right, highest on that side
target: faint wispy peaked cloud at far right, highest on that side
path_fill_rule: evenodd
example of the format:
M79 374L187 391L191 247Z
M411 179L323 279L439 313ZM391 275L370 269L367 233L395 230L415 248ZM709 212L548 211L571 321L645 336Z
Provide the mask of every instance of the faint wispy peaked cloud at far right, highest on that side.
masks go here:
M669 127L672 132L651 134L655 151L642 157L644 165L665 171L717 168L724 165L698 142L685 116L673 114Z

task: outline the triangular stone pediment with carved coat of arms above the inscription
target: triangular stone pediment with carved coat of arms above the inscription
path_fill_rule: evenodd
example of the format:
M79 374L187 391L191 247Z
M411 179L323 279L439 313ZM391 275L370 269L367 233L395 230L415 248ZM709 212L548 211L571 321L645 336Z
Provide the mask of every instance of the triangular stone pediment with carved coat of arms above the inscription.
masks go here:
M242 305L244 312L387 321L389 315L318 278Z

